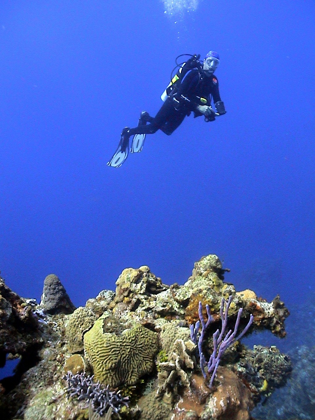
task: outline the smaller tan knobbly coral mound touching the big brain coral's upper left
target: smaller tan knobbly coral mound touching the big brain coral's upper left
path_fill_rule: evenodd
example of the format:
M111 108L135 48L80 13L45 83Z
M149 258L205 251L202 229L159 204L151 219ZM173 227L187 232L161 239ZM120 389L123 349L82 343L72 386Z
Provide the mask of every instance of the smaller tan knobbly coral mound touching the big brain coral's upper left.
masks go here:
M86 307L78 307L66 324L66 338L70 353L83 350L82 334L92 327L97 316Z

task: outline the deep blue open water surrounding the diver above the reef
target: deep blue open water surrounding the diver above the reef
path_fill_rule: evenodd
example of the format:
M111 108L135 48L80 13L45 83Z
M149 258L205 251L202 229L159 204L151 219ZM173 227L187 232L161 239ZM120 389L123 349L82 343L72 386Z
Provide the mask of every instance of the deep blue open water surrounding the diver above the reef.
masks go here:
M14 291L39 299L55 273L78 306L123 268L183 284L216 253L237 290L288 306L314 292L312 1L200 1L182 17L159 0L1 8L0 269ZM106 166L123 127L160 108L175 57L210 49L228 113Z

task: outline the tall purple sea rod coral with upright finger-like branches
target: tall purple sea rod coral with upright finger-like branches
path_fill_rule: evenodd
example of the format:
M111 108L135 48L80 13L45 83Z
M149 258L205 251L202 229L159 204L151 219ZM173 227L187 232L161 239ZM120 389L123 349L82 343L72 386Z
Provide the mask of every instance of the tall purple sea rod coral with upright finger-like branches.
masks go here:
M190 338L192 339L194 344L197 344L197 333L198 333L199 326L200 326L200 323L201 323L201 332L200 332L200 336L199 336L199 339L198 339L198 352L199 352L199 360L200 360L200 369L201 369L201 372L202 372L202 375L204 376L204 378L206 378L207 376L210 376L212 374L211 379L210 379L210 383L209 383L209 388L212 387L213 380L215 378L215 374L216 374L218 366L220 364L220 360L221 360L221 356L222 356L223 352L229 346L231 346L231 344L234 344L237 340L239 340L242 336L244 336L245 333L247 333L248 328L250 327L250 325L252 325L252 322L254 320L254 317L251 314L250 318L249 318L249 321L248 321L246 327L244 328L244 330L241 333L239 333L238 336L236 336L237 330L239 328L239 321L241 319L241 314L243 312L243 308L240 308L239 312L237 314L236 323L235 323L235 326L234 326L234 331L233 332L232 332L232 330L228 331L228 333L226 333L226 336L223 338L223 335L224 335L225 330L226 330L226 325L228 323L228 308L230 307L231 302L232 302L232 296L229 296L228 302L226 302L226 307L225 307L225 310L224 310L224 313L223 313L225 300L224 300L224 298L222 298L222 300L221 300L221 306L220 306L220 318L222 320L221 332L219 330L217 330L213 334L213 352L212 352L208 362L205 359L205 356L202 352L202 343L204 341L204 336L205 336L205 332L207 330L207 327L210 325L210 323L212 323L214 321L214 319L212 318L212 316L210 314L209 305L206 305L206 310L207 310L207 315L208 315L207 322L205 323L205 320L204 320L203 315L202 315L202 303L199 302L199 307L198 307L199 321L197 321L196 324L190 325ZM206 366L207 366L207 373L205 372L205 367Z

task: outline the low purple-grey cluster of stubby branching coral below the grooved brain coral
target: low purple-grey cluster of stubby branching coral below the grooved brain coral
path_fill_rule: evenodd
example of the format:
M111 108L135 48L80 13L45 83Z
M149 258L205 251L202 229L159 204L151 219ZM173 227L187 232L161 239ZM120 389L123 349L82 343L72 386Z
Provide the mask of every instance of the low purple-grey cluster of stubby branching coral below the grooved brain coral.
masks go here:
M111 407L113 412L118 413L123 406L128 407L129 397L121 396L120 391L110 391L100 382L94 382L93 376L85 373L73 375L70 371L63 377L67 381L67 392L69 396L77 396L78 401L86 399L92 404L93 411L101 417Z

